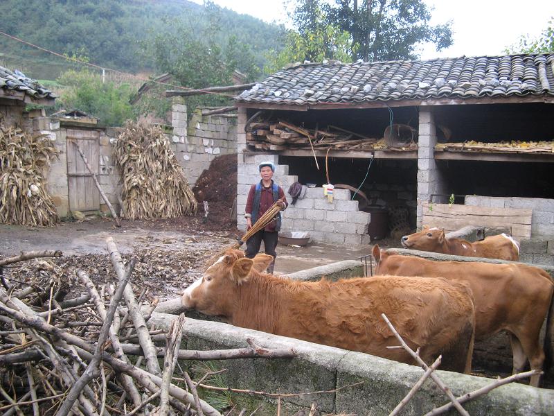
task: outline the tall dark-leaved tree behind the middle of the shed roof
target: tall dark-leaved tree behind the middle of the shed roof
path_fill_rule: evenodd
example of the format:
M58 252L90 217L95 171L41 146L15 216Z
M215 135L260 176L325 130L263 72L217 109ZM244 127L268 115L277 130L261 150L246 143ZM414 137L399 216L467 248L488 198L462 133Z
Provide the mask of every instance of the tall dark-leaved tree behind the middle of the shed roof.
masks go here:
M420 42L433 42L438 51L452 44L451 22L430 26L423 0L296 0L294 25L310 28L316 6L328 24L350 33L352 60L416 59Z

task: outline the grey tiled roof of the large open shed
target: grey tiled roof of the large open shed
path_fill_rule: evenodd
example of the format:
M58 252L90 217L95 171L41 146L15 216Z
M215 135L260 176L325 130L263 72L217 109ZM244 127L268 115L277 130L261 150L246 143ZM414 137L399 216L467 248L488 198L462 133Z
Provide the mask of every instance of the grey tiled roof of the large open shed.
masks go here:
M391 62L296 64L235 97L310 105L429 98L554 96L554 54Z

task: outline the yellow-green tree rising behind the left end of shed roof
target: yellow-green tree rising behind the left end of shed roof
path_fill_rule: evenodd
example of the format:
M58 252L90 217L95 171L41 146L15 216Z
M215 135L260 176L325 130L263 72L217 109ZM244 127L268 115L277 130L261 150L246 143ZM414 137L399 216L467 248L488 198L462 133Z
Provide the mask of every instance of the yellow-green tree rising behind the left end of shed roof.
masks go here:
M352 44L348 32L327 21L318 1L298 1L290 17L296 30L285 32L285 48L282 51L268 55L266 73L305 60L352 62L357 45Z

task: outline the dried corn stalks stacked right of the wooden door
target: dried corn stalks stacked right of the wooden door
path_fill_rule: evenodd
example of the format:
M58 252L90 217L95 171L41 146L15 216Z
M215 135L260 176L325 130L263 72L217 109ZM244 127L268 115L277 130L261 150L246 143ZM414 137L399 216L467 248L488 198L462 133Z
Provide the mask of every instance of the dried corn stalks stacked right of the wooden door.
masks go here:
M193 215L197 202L161 128L128 121L114 144L129 219Z

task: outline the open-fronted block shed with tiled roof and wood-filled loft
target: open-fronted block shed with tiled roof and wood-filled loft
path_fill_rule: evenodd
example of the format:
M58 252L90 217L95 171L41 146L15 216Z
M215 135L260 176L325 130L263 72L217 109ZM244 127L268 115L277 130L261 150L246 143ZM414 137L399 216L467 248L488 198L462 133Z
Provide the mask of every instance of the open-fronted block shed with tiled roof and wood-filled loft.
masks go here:
M532 209L528 238L553 236L553 69L545 54L274 73L235 97L239 227L257 164L270 159L285 191L297 180L317 185L283 221L316 241L366 243L382 211L389 231L421 227L429 202ZM354 191L335 189L326 202L328 181Z

